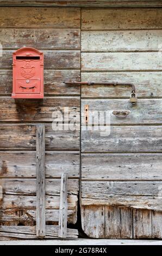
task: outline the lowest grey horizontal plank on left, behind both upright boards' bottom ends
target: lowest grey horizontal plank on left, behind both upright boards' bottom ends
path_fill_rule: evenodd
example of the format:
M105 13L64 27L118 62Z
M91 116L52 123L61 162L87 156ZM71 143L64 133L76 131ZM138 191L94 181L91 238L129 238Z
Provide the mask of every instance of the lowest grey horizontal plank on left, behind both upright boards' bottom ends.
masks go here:
M46 225L46 236L47 239L57 238L58 237L59 227L58 225ZM22 239L36 239L36 226L27 227L27 226L12 226L12 227L0 227L0 236L5 237L16 237ZM78 230L77 229L67 229L67 238L77 238Z

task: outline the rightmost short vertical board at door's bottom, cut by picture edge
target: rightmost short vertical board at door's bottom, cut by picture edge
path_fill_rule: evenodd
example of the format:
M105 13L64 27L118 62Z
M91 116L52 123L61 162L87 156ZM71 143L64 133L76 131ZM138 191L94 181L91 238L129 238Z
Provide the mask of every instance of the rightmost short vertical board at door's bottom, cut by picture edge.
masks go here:
M162 212L152 211L152 238L162 238Z

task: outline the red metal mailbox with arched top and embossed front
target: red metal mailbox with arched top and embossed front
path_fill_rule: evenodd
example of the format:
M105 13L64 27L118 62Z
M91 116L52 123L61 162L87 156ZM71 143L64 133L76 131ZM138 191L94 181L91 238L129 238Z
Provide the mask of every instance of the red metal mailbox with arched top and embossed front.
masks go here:
M23 47L13 53L13 98L43 98L43 53Z

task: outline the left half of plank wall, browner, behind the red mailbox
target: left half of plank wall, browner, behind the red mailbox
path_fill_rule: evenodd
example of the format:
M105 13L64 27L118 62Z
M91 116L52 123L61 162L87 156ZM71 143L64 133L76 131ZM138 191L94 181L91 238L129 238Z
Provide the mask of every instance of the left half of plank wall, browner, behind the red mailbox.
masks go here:
M59 221L60 178L64 172L68 173L68 223L76 223L79 131L53 131L51 122L52 113L57 109L63 111L69 107L74 115L80 112L80 88L63 83L67 79L80 80L80 8L1 7L0 36L3 46L0 58L1 225L35 225L36 124L39 123L45 124L46 223ZM43 100L10 97L12 53L23 46L38 48L45 54ZM50 238L48 227L46 229L46 236ZM57 227L51 230L57 237ZM25 232L23 228L2 227L0 236L26 238ZM67 230L67 235L72 237L70 232ZM27 238L36 238L35 227L28 228L27 233ZM77 233L73 237L76 236Z

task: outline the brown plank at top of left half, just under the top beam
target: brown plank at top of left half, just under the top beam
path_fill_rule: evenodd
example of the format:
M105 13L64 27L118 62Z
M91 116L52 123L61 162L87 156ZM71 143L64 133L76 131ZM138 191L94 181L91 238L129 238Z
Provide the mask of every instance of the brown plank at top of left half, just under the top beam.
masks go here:
M1 28L79 28L79 8L1 7Z

